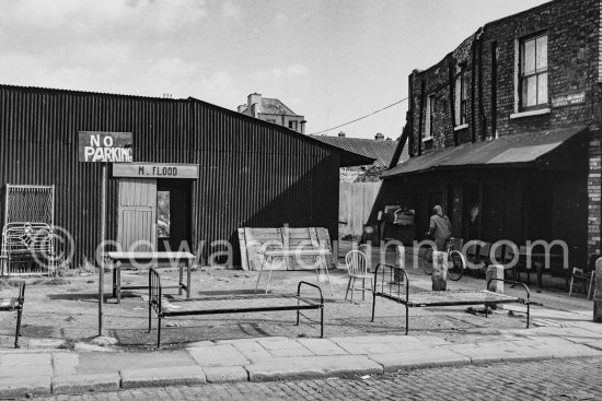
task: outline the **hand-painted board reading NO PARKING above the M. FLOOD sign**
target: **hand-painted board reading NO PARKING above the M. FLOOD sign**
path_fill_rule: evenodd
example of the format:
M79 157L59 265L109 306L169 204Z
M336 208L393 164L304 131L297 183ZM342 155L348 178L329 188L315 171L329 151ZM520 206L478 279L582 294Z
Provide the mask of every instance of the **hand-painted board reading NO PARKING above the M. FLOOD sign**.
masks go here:
M131 132L91 132L79 134L80 162L131 162Z

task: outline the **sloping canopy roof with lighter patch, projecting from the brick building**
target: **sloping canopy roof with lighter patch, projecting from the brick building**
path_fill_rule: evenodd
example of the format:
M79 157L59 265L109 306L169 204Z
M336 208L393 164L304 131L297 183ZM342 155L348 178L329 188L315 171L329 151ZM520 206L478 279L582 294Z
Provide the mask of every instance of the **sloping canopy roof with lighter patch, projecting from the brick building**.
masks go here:
M438 169L535 165L545 155L587 129L587 127L576 126L435 150L420 156L410 157L407 162L389 169L381 178Z

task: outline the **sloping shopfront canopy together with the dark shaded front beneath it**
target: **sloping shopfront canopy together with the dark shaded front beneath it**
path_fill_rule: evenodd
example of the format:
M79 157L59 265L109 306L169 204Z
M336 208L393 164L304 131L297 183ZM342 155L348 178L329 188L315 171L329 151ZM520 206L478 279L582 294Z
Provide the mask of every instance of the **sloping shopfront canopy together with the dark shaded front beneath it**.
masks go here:
M440 204L455 237L563 239L586 255L587 132L578 126L521 133L412 157L382 176L370 224L385 205L414 210L414 239L422 239Z

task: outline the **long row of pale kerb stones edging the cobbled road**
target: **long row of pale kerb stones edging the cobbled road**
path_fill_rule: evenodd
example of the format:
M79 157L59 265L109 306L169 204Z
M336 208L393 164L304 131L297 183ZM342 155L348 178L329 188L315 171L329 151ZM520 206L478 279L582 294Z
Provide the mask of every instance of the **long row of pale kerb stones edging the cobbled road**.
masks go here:
M520 347L522 349L522 347ZM602 357L598 350L579 346L552 352L534 347L526 355L500 352L500 355L466 355L460 350L433 347L394 354L332 355L312 357L274 357L245 366L166 366L160 368L123 369L119 374L0 377L0 397L43 396L69 392L102 392L119 389L166 386L195 386L207 382L269 381L280 379L326 378L337 376L380 375L401 369L422 369L486 363L519 363L532 361ZM571 351L575 351L572 353ZM588 354L588 351L590 352Z

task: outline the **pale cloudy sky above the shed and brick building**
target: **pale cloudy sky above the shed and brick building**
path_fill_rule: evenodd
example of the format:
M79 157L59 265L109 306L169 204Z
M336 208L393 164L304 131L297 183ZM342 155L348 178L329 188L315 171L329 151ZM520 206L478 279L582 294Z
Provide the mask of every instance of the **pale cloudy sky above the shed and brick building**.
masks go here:
M316 133L407 96L407 76L543 0L0 0L0 83L236 109L279 98ZM407 102L324 134L395 139Z

